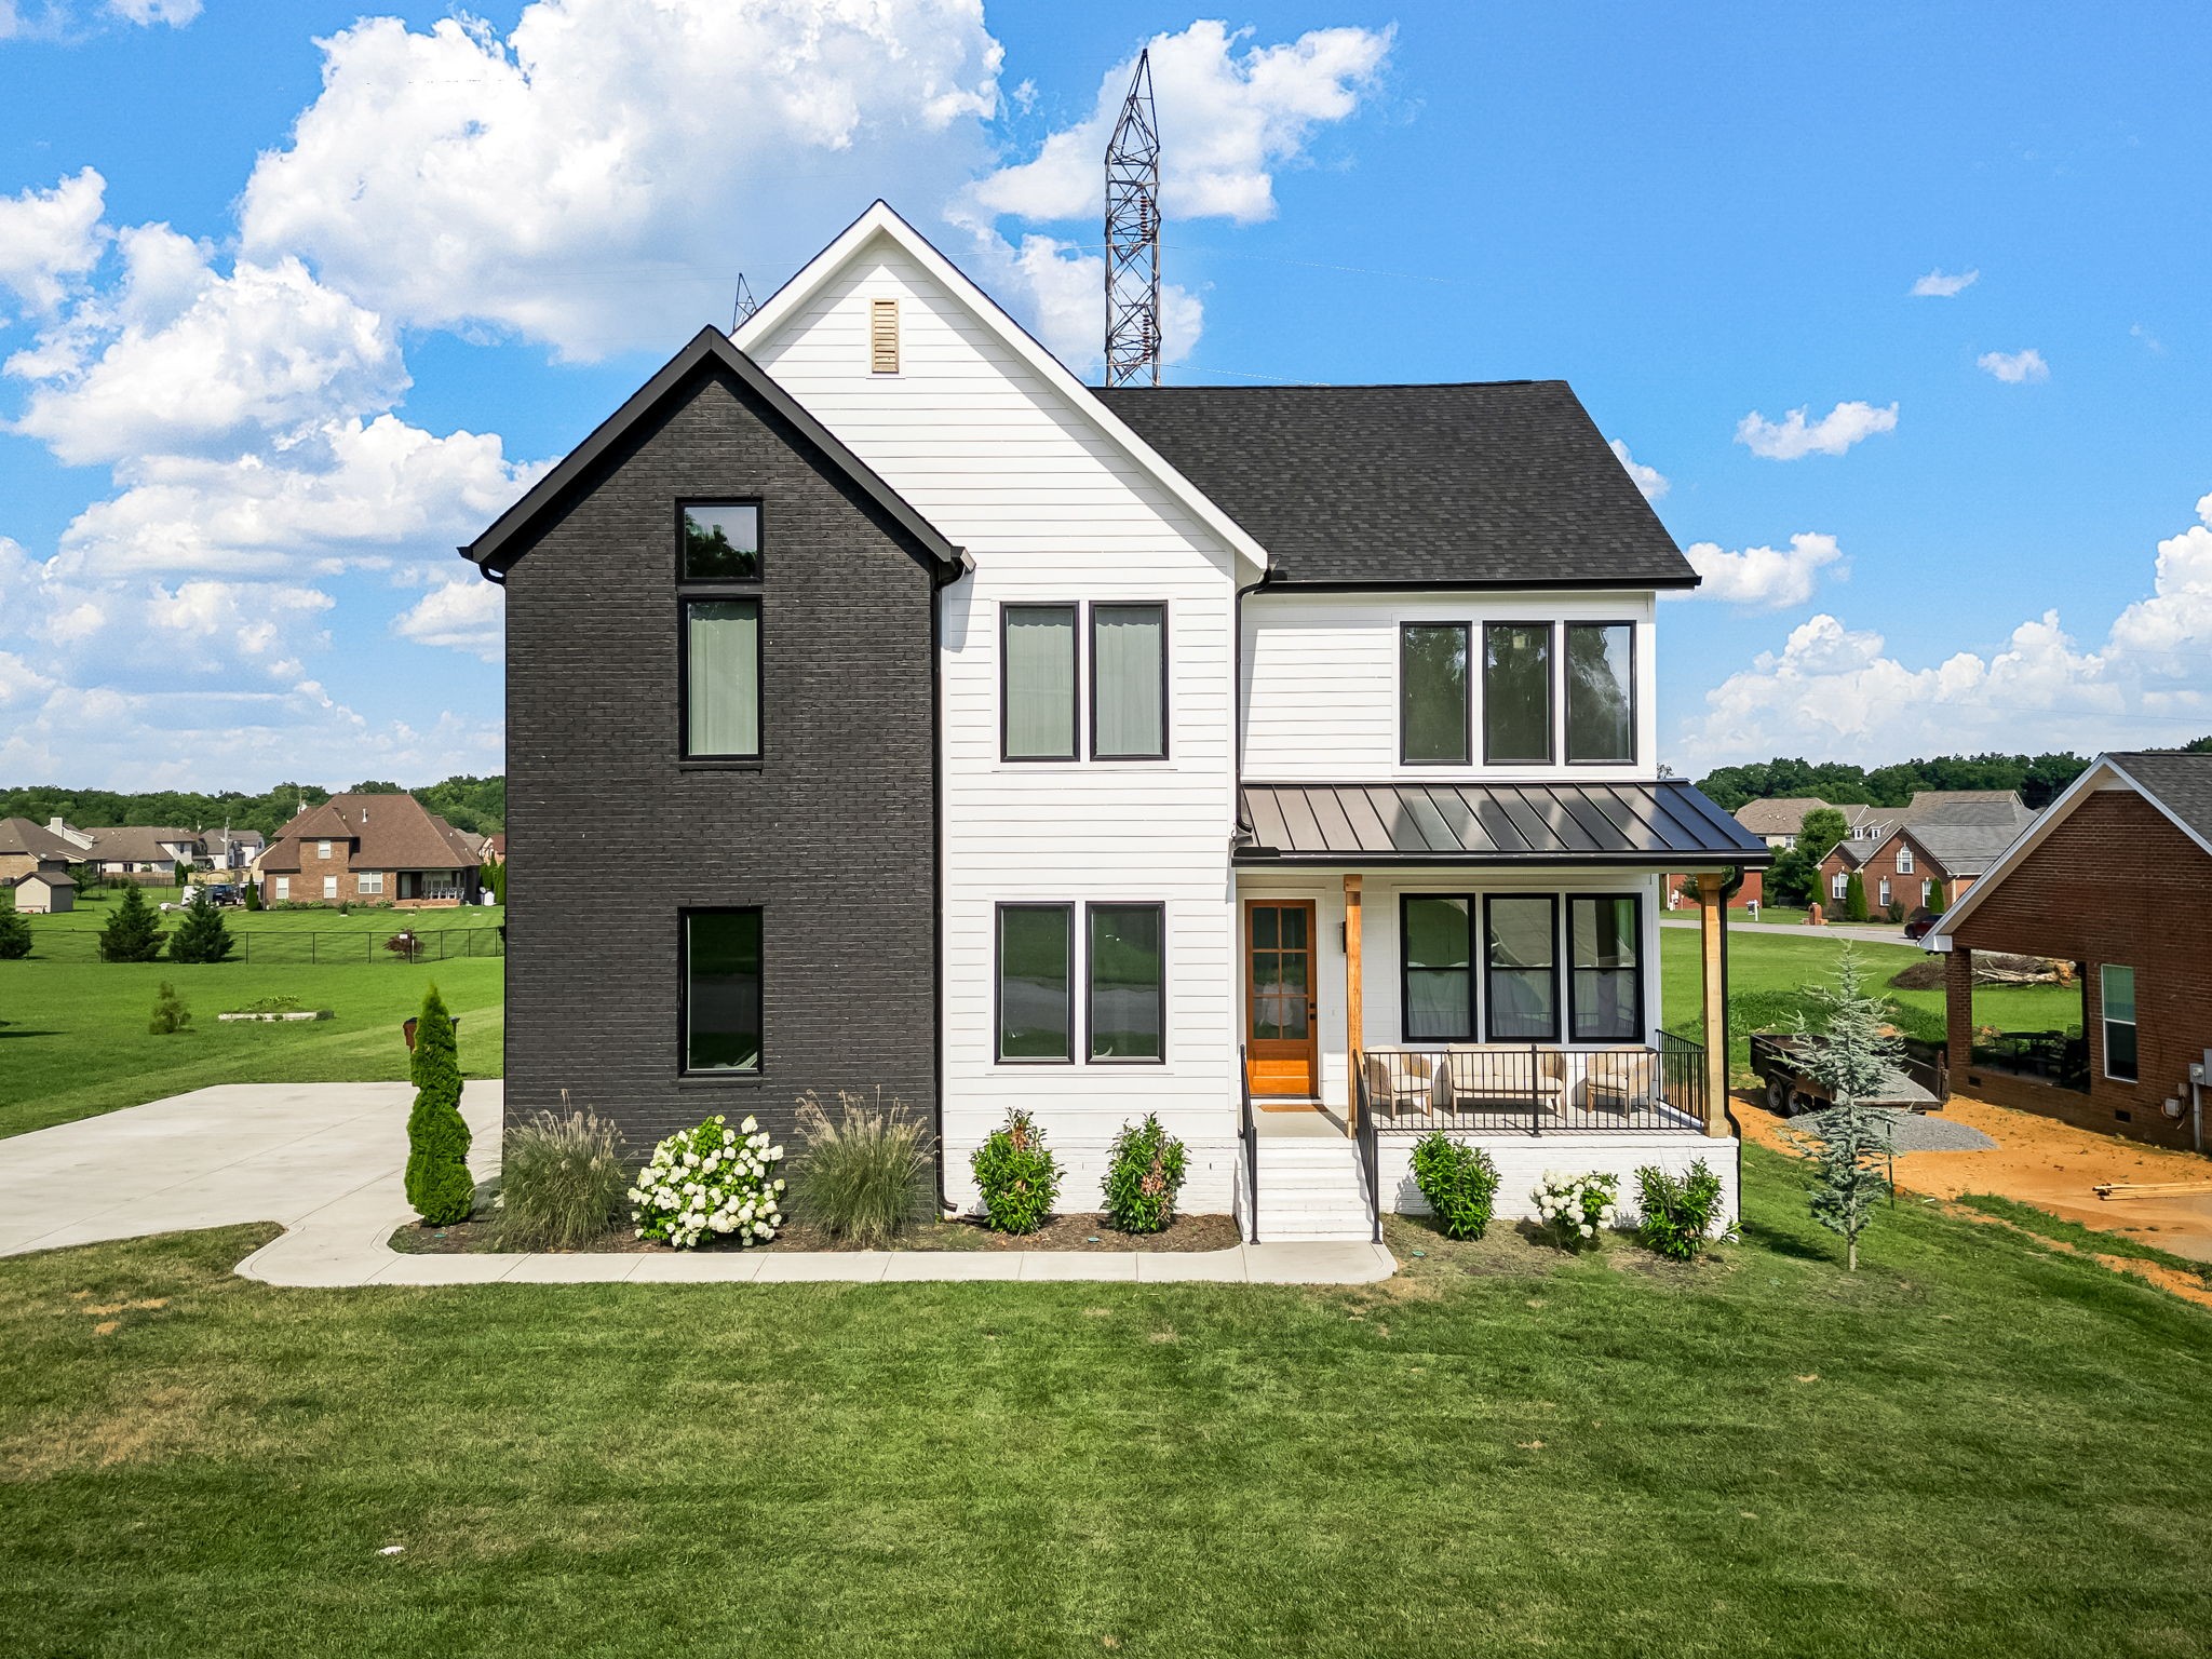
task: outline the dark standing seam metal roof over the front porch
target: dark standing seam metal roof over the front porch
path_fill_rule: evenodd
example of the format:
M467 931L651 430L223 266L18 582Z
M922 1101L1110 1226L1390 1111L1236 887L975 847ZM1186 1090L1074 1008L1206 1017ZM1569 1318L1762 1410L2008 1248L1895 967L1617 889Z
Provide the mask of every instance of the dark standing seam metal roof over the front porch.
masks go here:
M1767 845L1681 781L1248 783L1237 863L1763 869Z

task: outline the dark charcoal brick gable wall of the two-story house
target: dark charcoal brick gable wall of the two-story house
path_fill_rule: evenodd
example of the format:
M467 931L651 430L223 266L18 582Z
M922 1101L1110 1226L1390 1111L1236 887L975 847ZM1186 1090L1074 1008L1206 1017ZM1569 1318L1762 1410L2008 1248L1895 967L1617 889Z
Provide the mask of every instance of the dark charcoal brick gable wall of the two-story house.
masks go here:
M763 502L763 761L679 765L677 502ZM936 1110L933 580L805 438L701 374L507 580L507 1115L710 1113L814 1088ZM679 1077L679 911L763 907L759 1082Z

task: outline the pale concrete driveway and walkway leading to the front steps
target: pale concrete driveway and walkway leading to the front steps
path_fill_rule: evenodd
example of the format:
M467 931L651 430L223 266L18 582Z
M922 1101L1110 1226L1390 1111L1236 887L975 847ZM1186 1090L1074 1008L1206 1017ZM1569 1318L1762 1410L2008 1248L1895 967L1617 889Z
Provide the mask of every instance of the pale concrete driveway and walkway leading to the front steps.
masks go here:
M155 1232L281 1221L239 1263L270 1285L1119 1281L1363 1285L1398 1263L1371 1243L1210 1252L872 1250L407 1256L407 1084L223 1084L0 1139L0 1256ZM478 1179L500 1166L502 1088L460 1110Z

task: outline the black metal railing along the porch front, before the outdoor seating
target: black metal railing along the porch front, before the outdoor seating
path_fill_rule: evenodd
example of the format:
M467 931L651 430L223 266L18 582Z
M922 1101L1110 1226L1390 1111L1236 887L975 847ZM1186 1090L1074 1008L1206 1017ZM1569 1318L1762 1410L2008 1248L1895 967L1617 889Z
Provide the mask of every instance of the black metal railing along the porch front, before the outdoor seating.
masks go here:
M1385 1135L1697 1130L1705 1121L1703 1053L1672 1033L1661 1033L1659 1048L1369 1048L1360 1055L1363 1117Z

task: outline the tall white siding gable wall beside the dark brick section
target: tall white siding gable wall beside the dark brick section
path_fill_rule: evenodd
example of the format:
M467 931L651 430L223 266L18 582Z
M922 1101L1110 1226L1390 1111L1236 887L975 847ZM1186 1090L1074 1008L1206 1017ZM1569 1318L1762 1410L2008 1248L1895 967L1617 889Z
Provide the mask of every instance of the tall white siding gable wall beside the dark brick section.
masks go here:
M900 301L896 376L869 374L874 299ZM1011 1106L1029 1106L1073 1166L1062 1203L1097 1208L1104 1144L1126 1119L1157 1110L1192 1144L1186 1206L1228 1210L1237 1133L1228 872L1234 555L885 239L750 349L975 560L973 575L940 599L953 1194L964 1186L967 1152ZM1037 599L1168 604L1166 763L1000 761L998 615L1006 602ZM1088 734L1086 706L1079 732ZM1004 900L1168 907L1164 1066L995 1062L993 907ZM1077 945L1077 1006L1079 960ZM1077 1053L1079 1026L1077 1015Z

